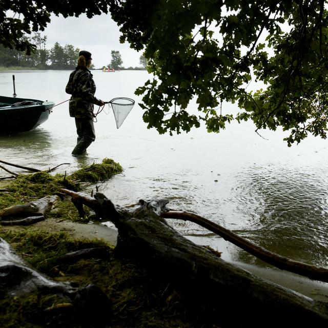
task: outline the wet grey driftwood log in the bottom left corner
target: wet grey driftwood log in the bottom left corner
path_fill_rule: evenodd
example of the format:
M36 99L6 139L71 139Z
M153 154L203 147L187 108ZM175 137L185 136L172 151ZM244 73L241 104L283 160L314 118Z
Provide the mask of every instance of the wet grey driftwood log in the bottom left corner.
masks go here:
M96 285L77 287L69 282L54 281L31 268L4 239L0 238L0 295L2 293L10 296L27 293L57 295L63 298L65 304L71 306L72 318L76 322L82 322L84 325L81 326L88 327L103 326L110 307L107 295ZM49 317L56 315L51 313L56 310L50 308L38 312L38 321L47 322Z

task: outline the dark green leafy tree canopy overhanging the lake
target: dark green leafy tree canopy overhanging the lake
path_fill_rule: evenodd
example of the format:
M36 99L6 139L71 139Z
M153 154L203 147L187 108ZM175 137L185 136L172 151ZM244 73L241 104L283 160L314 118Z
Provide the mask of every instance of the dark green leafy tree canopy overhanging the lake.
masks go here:
M24 4L32 10L31 1ZM252 119L257 129L281 126L290 132L289 145L309 133L326 138L327 1L100 0L70 2L67 7L61 0L52 5L43 0L35 4L46 6L47 12L64 16L87 12L89 17L106 12L109 5L120 26L121 42L144 51L148 70L155 75L136 92L144 95L140 104L144 120L159 133L189 131L201 121L208 131L218 132L235 118ZM33 29L47 22L31 13L27 19ZM15 30L14 25L11 28ZM2 29L0 42L6 45ZM23 49L24 43L20 46ZM251 81L262 81L265 87L252 92L247 88ZM198 114L188 108L193 97ZM237 103L240 112L229 113L227 102Z

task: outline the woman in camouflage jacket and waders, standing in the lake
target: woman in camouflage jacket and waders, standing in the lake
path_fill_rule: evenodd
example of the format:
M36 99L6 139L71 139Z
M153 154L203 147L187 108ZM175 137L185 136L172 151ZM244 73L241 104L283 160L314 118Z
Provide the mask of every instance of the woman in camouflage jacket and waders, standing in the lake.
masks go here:
M72 155L77 156L86 152L87 148L96 139L93 125L93 106L104 106L103 100L97 99L94 94L96 85L89 70L91 53L80 51L77 67L70 74L66 93L71 94L69 102L70 116L75 118L77 144Z

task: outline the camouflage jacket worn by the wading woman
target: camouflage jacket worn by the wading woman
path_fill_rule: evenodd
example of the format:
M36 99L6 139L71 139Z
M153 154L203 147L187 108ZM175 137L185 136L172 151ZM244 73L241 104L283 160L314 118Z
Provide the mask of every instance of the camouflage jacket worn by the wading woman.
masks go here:
M86 67L75 68L70 74L65 91L72 95L69 103L71 117L90 118L93 114L93 104L98 106L101 104L101 100L94 96L96 85L91 72Z

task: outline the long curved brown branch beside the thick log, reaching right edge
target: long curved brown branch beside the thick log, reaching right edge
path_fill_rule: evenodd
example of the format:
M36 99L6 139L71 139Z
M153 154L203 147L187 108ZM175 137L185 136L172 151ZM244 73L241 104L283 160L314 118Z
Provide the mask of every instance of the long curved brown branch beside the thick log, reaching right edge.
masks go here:
M211 222L210 220L199 215L181 211L169 211L162 213L161 217L197 223L199 226L214 232L215 234L223 237L223 239L228 240L236 246L240 247L244 251L256 256L264 262L274 265L279 269L306 276L310 279L328 282L328 269L294 261L287 257L283 257L279 254L270 252L242 237L239 237L231 230L220 227L218 224Z

